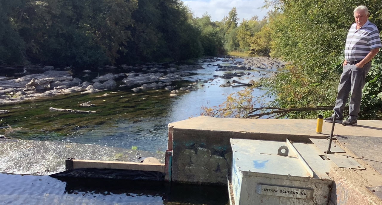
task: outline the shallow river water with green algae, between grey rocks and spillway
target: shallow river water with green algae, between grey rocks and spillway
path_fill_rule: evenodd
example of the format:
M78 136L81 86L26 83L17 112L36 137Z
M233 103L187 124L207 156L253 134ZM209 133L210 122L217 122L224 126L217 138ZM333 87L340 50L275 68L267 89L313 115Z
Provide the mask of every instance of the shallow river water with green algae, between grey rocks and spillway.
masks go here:
M236 59L236 62L242 61L243 59ZM202 106L218 106L225 101L226 94L243 89L240 86L219 87L228 80L212 76L235 71L215 71L218 69L217 66L207 66L207 64L207 62L201 62L206 69L193 71L196 75L186 78L190 82L198 80L199 90L173 98L169 96L170 92L165 90L133 93L131 90L122 88L115 92L55 96L45 100L3 106L2 109L8 109L11 113L0 116L0 125L10 124L12 127L23 127L21 132L10 135L11 138L62 140L128 149L131 146L138 146L140 150L164 151L167 146L168 123L199 116ZM221 61L212 64L231 65ZM273 71L276 69L245 71L250 75L233 79L248 82L249 79L256 80L266 77ZM253 75L255 77L252 77ZM203 82L209 79L213 80ZM229 81L233 79L229 79ZM102 96L105 93L108 96ZM261 88L254 90L254 96L261 96L264 93L265 91ZM78 106L87 101L98 106L91 108ZM97 113L55 113L49 112L50 106L94 110Z

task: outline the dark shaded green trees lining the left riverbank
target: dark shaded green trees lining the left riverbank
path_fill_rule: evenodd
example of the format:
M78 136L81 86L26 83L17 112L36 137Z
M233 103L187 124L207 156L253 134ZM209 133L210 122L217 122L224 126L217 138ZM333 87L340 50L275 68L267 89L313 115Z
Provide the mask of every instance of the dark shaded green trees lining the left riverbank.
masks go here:
M181 0L0 2L0 63L75 67L185 60L221 53Z

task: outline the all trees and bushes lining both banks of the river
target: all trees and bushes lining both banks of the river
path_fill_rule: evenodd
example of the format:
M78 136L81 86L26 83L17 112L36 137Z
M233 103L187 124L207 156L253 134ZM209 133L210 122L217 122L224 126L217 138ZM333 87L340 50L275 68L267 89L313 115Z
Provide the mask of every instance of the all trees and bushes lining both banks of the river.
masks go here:
M228 96L220 117L251 116L242 108L333 106L342 71L346 34L358 0L267 0L274 10L259 19L238 19L236 8L222 21L193 17L181 0L14 0L0 2L0 64L97 67L178 61L227 52L282 58L283 72L261 82L269 92ZM380 0L363 2L370 21L382 27ZM234 53L231 53L234 54ZM382 54L366 79L361 119L382 119ZM256 100L254 99L256 98ZM259 106L257 106L259 107ZM231 114L222 111L231 110ZM215 112L216 111L216 112ZM261 112L261 111L259 111ZM267 112L266 110L264 112ZM288 112L312 118L331 111Z

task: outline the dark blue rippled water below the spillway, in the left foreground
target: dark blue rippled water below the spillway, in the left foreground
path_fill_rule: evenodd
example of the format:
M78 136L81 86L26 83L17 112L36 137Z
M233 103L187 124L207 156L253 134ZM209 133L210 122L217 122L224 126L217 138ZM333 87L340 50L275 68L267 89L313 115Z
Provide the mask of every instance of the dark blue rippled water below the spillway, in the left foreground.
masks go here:
M0 174L0 204L226 205L226 186Z

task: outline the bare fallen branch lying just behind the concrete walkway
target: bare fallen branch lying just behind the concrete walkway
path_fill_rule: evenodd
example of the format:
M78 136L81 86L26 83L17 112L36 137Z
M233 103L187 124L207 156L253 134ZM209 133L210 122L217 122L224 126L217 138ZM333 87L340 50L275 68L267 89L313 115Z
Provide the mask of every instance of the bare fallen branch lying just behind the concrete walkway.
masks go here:
M273 110L273 111L269 111L269 112L262 112L262 113L253 114L253 115L248 115L246 118L251 118L251 117L260 118L260 117L265 116L265 115L276 114L276 115L272 116L272 117L275 117L278 114L281 114L280 116L278 116L278 118L280 118L280 117L284 116L283 115L284 113L288 113L288 112L295 112L295 111L329 111L329 110L333 110L333 108L334 108L334 106L300 107L300 108L285 108L285 109L278 108L278 107L258 107L258 108L254 108L253 111L251 111L250 113L253 113L253 112L259 111L259 110L267 110L267 109L277 109L277 110Z

